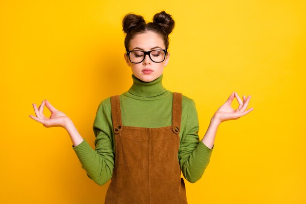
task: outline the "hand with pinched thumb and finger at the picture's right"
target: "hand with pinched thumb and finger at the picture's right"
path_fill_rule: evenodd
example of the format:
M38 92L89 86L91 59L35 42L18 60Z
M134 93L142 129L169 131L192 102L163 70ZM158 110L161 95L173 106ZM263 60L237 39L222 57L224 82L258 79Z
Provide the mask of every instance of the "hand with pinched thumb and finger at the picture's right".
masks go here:
M234 110L231 107L231 104L234 100L234 98L237 98L239 107L238 109ZM246 110L247 105L249 104L249 101L251 99L251 96L249 95L247 98L243 95L243 102L241 101L240 97L238 96L237 92L233 92L227 101L217 110L217 112L214 114L214 119L217 119L219 123L226 121L226 120L237 120L241 116L250 113L253 111L253 108L250 108Z

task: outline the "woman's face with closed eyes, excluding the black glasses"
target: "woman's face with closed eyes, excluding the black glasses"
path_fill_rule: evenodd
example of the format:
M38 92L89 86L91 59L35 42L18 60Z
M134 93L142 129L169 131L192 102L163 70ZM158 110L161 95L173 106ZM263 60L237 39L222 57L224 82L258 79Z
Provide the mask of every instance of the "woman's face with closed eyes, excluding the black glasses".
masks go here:
M154 49L165 49L164 41L162 38L152 31L137 34L131 41L129 51L131 50L142 50L150 51ZM163 62L153 62L149 55L146 55L145 59L138 64L131 63L129 56L124 54L124 58L131 67L133 74L144 82L151 82L157 79L163 73L164 67L167 66L169 61L170 53L167 53L166 58ZM144 71L144 69L151 69L152 71Z

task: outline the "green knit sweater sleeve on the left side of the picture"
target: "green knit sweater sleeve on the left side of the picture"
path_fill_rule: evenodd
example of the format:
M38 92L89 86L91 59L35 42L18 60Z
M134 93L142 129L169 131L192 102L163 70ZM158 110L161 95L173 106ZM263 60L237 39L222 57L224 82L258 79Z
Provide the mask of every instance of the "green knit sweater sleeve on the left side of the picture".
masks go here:
M98 185L103 185L109 181L114 168L114 153L111 139L112 124L109 124L110 115L108 114L102 101L97 109L92 127L96 137L94 142L95 150L89 146L85 139L76 147L72 145L82 168L87 173L87 177Z

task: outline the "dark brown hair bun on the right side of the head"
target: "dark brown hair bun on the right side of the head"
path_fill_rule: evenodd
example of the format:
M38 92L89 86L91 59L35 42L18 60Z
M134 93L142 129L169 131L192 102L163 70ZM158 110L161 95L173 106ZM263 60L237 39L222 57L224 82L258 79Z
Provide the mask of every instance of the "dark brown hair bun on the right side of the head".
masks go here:
M153 23L161 27L167 35L172 32L175 26L175 21L172 19L171 15L167 14L165 11L155 14Z

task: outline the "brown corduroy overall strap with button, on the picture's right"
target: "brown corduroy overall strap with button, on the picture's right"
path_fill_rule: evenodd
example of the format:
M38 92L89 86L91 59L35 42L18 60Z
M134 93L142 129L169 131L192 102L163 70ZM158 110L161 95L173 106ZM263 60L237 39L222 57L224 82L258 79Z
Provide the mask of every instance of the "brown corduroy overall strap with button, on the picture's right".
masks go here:
M182 117L182 93L173 92L172 131L177 135L180 131Z

